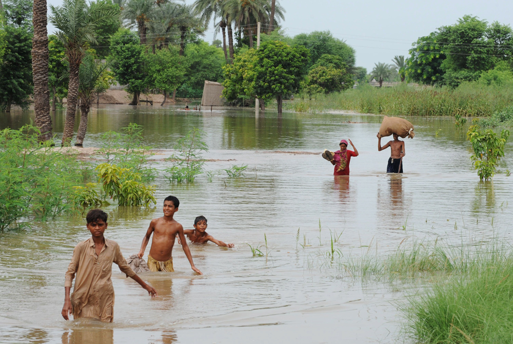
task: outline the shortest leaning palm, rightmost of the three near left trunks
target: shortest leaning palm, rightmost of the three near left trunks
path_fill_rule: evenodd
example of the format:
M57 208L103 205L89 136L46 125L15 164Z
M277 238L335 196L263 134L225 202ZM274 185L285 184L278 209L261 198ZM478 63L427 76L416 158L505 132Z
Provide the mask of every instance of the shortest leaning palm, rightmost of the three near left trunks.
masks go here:
M103 73L109 67L108 63L95 62L93 56L86 55L78 69L80 86L78 97L80 98L80 125L76 133L75 146L82 147L87 131L87 115L94 95L98 96L107 90L105 83L101 82Z

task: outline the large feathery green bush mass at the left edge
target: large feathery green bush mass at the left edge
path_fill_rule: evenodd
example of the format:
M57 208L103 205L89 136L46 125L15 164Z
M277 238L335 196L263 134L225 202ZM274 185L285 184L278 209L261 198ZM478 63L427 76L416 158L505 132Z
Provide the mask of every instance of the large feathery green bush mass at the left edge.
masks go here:
M46 220L75 208L80 164L70 150L38 143L39 133L31 125L0 131L0 230L30 214Z

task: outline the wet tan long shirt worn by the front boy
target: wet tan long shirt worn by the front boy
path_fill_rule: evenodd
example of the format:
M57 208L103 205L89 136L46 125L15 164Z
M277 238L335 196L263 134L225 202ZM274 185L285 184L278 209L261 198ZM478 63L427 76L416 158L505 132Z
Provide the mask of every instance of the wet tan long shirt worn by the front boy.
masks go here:
M76 274L75 287L70 296L73 318L96 318L112 322L114 288L110 277L113 262L128 276L135 275L117 242L105 239L100 255L96 255L92 237L76 245L64 284L65 287L71 287Z

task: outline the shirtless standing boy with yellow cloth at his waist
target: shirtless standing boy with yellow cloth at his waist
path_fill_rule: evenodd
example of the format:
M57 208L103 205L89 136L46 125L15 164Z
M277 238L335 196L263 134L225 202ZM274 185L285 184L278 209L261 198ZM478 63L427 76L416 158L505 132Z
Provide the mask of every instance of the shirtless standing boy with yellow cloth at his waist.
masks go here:
M174 196L168 196L164 199L164 216L151 220L150 227L148 227L146 235L143 238L141 251L139 251L137 256L139 256L139 258L143 257L144 250L146 250L146 246L150 241L151 233L153 233L150 254L148 255L148 268L150 268L150 271L173 272L172 253L174 239L176 238L176 234L178 234L192 270L201 275L201 271L194 266L194 262L192 261L191 251L185 241L184 228L173 219L174 213L178 211L179 206L180 201Z

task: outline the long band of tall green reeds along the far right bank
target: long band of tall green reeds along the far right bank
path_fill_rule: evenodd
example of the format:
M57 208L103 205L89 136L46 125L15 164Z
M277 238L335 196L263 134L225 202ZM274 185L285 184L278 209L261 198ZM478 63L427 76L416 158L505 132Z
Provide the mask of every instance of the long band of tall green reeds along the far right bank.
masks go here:
M342 93L313 96L297 95L286 109L296 112L351 110L387 116L455 116L488 117L513 105L513 88L466 83L448 88L365 86Z

